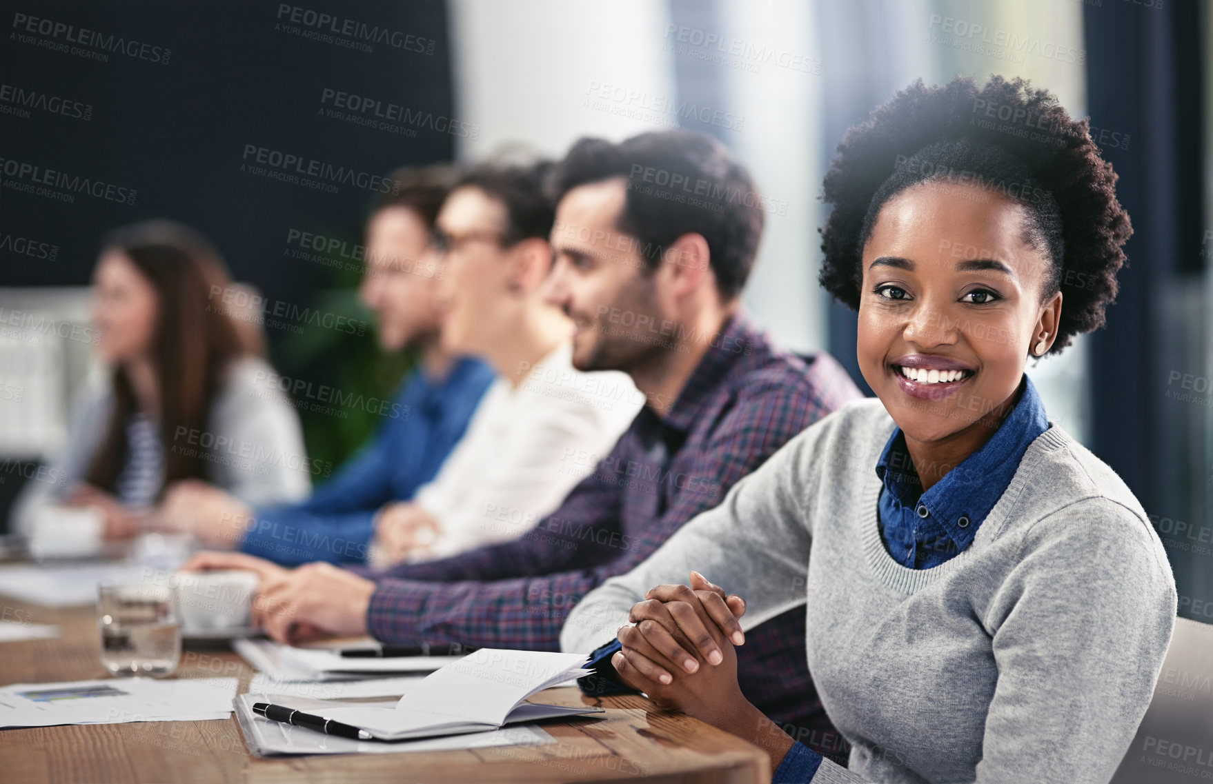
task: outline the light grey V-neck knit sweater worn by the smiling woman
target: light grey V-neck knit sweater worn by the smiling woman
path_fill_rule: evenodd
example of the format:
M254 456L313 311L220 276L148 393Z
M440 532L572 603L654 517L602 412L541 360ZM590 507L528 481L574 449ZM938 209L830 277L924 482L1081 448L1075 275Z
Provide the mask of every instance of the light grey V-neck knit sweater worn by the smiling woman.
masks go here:
M649 588L690 570L748 611L807 605L809 670L853 745L814 784L1106 783L1171 641L1175 584L1141 505L1052 420L961 554L930 570L881 542L873 467L893 433L877 399L816 422L562 633L591 651Z

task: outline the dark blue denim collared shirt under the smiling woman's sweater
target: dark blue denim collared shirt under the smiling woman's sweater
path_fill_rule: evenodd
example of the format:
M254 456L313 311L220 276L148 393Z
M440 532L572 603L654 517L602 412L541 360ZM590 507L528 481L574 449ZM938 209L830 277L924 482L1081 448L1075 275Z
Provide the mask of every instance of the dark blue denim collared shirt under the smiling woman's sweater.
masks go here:
M905 434L894 428L876 464L876 475L884 482L881 537L893 560L907 568L929 570L967 548L1010 485L1027 446L1048 427L1041 397L1025 374L1019 401L990 440L927 492L921 492Z

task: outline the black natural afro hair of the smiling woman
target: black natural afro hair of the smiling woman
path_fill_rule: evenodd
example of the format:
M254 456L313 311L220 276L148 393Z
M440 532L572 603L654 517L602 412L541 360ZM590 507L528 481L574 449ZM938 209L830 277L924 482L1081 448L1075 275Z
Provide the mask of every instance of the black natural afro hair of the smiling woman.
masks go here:
M822 191L833 210L820 229L819 281L839 302L859 309L862 247L889 199L923 182L970 182L1024 205L1024 239L1052 264L1042 302L1058 291L1064 302L1049 353L1104 326L1133 229L1087 120L1047 90L997 75L984 87L919 79L848 130L837 153Z

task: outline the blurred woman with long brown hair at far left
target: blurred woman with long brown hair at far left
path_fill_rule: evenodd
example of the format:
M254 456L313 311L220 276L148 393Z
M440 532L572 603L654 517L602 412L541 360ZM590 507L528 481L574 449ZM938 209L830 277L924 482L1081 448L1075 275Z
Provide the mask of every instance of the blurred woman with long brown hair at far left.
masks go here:
M16 531L46 538L63 507L84 507L101 538L129 538L187 479L250 503L307 494L295 410L257 395L258 373L273 370L256 317L234 317L224 301L235 298L215 296L232 286L218 252L186 225L150 221L106 238L93 321L109 377L78 395L55 481L25 486Z

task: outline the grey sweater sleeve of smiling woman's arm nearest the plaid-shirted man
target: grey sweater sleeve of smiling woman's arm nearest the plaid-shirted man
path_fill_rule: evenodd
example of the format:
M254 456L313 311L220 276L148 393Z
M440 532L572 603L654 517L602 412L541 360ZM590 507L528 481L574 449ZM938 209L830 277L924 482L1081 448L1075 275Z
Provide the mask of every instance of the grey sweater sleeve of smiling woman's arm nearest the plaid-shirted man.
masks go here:
M746 600L746 630L803 605L810 544L807 499L815 494L810 457L821 428L836 416L792 439L648 560L586 595L564 624L560 648L590 652L610 641L645 591L685 583L691 570Z

